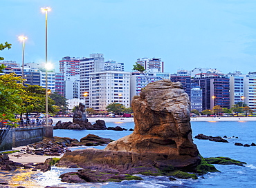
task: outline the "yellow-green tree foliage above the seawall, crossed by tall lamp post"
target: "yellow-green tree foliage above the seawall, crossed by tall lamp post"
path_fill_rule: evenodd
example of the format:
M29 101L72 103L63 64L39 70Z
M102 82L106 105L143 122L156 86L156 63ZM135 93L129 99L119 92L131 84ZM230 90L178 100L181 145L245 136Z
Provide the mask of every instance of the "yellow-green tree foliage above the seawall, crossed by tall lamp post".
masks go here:
M45 89L38 85L22 85L15 73L0 76L0 121L15 122L15 114L45 112ZM48 98L48 112L55 113L55 101Z

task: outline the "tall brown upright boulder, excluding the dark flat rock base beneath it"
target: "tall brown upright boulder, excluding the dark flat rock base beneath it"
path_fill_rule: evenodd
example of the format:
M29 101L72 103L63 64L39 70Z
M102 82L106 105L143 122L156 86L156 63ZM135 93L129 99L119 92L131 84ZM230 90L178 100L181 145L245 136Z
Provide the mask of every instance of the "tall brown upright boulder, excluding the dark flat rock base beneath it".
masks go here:
M110 143L106 149L122 152L152 152L168 156L198 156L192 141L190 100L181 83L169 80L150 83L136 96L134 132Z

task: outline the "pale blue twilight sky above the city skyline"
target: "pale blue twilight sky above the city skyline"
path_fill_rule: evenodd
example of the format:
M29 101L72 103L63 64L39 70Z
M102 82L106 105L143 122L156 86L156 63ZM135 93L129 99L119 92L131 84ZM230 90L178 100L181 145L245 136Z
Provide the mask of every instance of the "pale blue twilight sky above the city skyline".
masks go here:
M212 67L223 73L255 72L255 0L1 0L0 51L6 61L45 60L48 12L48 61L59 70L64 56L103 53L106 61L125 63L161 58L165 72Z

